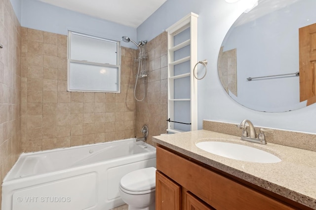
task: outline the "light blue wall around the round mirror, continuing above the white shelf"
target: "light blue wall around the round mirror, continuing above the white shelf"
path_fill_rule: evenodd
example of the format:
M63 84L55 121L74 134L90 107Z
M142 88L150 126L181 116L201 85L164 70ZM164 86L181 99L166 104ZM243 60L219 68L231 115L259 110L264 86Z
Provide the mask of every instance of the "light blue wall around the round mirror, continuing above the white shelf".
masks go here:
M315 104L288 112L255 111L239 105L222 87L217 73L218 52L229 28L248 8L247 4L249 0L237 3L226 3L225 0L167 0L137 28L137 37L150 40L190 12L199 15L197 59L208 60L208 71L204 79L197 81L198 129L202 128L203 119L238 124L243 119L249 119L256 126L316 133ZM248 99L252 100L252 97Z

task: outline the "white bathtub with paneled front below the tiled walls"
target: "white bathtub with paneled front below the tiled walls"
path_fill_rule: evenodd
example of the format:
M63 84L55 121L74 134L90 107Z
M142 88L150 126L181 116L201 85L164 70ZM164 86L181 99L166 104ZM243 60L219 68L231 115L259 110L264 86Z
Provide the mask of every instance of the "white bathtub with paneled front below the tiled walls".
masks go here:
M110 210L120 178L156 167L156 148L135 139L22 153L2 183L2 210Z

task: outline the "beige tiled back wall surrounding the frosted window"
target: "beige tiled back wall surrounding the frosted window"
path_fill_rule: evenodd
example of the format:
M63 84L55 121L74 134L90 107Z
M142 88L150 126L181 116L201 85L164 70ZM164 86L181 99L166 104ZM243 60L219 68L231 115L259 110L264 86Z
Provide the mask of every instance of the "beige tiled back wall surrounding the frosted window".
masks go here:
M22 28L23 151L135 137L134 54L121 48L121 93L67 92L67 36Z

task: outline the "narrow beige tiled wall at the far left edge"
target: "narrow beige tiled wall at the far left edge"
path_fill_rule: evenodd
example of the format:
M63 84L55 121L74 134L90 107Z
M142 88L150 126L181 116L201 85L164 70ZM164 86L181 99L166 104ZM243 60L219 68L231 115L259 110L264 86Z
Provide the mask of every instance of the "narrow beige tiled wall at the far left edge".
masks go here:
M21 27L0 0L0 182L21 153ZM0 201L1 201L0 188ZM1 202L0 202L1 204ZM1 209L1 208L0 208Z

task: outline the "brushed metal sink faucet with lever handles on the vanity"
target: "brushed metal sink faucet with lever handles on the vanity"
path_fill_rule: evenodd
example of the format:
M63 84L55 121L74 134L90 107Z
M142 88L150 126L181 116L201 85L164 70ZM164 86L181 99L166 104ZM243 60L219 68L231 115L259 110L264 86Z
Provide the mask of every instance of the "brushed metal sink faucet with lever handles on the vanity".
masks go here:
M249 126L249 134L247 131L246 123ZM255 131L255 128L254 128L252 122L250 120L247 120L247 119L242 120L242 122L239 125L237 125L237 127L240 129L243 129L242 134L241 134L241 138L240 138L241 140L246 140L246 141L260 143L260 144L267 143L266 137L265 137L263 132L272 132L273 131L270 129L260 128L260 134L258 135L258 138L257 138L256 131Z

